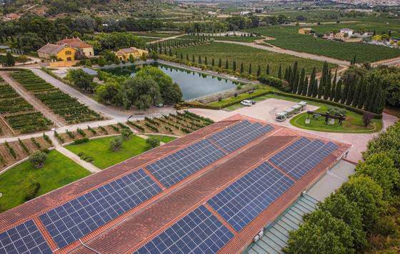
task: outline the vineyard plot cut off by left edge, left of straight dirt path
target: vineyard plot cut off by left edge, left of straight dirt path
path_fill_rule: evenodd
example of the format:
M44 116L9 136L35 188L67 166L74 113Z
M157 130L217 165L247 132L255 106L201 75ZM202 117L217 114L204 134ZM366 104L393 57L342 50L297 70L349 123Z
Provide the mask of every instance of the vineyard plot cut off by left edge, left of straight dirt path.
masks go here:
M44 131L50 126L51 121L35 111L34 107L0 76L0 136Z

